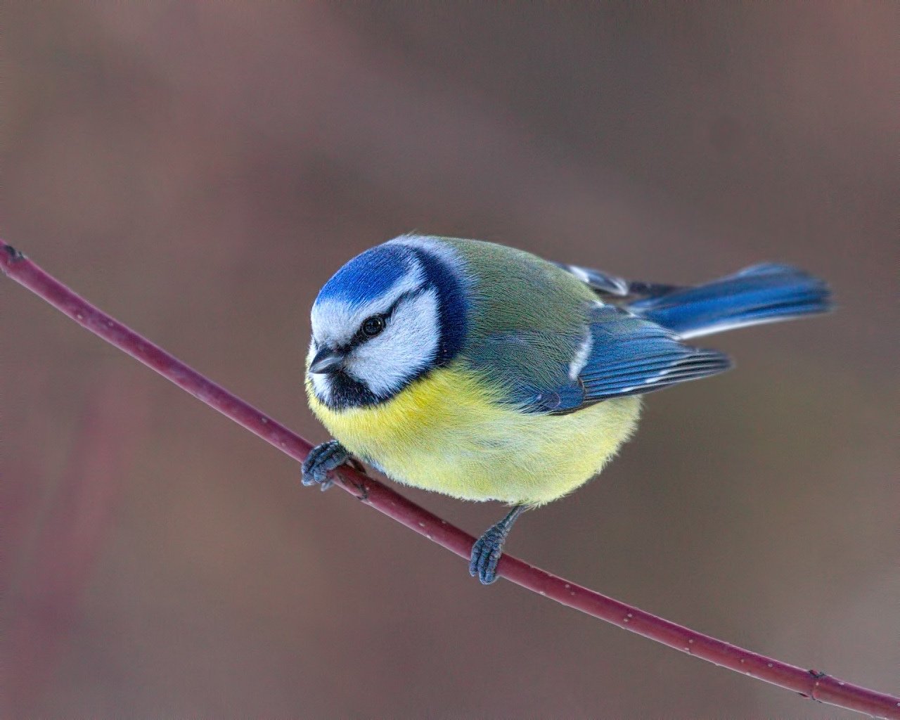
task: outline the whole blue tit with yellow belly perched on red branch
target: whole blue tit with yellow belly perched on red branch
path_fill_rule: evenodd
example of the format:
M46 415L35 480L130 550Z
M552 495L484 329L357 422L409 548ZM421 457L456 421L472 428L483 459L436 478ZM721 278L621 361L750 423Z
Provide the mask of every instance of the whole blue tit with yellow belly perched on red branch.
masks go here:
M642 395L730 367L685 340L829 307L824 282L791 266L680 287L479 240L392 239L312 306L306 390L336 439L312 450L303 483L326 489L354 456L397 482L509 504L473 545L470 572L489 584L516 518L599 473Z

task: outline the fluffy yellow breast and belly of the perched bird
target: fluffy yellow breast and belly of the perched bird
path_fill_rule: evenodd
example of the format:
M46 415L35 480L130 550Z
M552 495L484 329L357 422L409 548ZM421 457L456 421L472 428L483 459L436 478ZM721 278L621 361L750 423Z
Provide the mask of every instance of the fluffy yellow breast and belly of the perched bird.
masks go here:
M635 397L568 415L510 410L473 374L450 366L374 407L312 411L360 459L397 482L463 500L543 505L587 482L631 435Z

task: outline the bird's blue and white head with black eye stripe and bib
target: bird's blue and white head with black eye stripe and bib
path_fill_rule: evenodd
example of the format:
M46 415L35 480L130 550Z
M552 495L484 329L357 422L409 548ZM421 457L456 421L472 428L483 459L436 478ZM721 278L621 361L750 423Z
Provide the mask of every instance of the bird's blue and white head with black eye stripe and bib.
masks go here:
M403 236L366 250L312 305L307 373L335 410L390 400L462 347L459 261L435 238Z

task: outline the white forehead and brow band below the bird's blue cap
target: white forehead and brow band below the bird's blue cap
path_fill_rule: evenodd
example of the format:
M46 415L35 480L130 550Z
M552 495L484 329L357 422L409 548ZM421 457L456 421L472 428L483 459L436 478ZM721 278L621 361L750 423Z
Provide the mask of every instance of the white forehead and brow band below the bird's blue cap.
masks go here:
M419 289L425 273L415 258L410 258L406 272L386 291L365 301L332 297L312 306L312 338L319 345L340 347L356 334L360 324L370 315L387 311L403 293Z

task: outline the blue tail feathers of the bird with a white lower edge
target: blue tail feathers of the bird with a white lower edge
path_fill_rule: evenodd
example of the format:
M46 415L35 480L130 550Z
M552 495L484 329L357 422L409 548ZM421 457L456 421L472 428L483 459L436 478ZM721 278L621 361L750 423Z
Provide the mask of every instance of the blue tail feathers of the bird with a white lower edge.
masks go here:
M791 320L831 310L824 281L788 265L756 265L698 287L645 298L628 310L696 338L747 325Z

